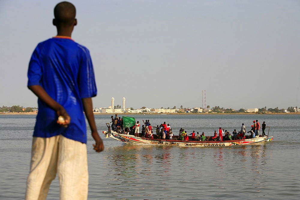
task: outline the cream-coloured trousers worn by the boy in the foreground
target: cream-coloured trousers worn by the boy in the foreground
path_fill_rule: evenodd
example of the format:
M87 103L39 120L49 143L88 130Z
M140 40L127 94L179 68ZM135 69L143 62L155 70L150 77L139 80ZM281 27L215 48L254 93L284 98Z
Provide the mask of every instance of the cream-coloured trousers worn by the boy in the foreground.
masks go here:
M46 199L56 173L60 199L87 199L86 144L62 135L50 138L33 137L25 199Z

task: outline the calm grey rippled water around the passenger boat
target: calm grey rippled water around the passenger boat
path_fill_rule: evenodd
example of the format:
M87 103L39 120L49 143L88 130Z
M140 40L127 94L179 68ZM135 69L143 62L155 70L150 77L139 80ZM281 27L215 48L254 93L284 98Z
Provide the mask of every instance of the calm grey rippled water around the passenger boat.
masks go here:
M92 149L88 131L88 199L300 199L300 115L130 116L153 126L170 123L176 135L184 128L206 136L219 126L238 131L242 123L249 131L258 119L274 140L231 147L126 145L105 138L110 115L96 115L105 150ZM0 115L0 199L24 199L34 125L34 115ZM58 199L58 190L56 178L47 199Z

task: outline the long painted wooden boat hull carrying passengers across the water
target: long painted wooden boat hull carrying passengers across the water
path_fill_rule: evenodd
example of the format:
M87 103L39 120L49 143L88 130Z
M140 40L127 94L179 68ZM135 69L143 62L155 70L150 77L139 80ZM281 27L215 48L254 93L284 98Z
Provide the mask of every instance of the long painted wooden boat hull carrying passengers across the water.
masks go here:
M196 141L191 140L189 136L188 141L178 140L179 136L174 136L173 140L165 140L165 139L157 139L156 135L154 139L143 138L140 135L128 135L121 134L115 131L102 131L106 137L113 138L115 140L121 141L126 144L134 144L134 145L173 145L173 146L203 146L203 147L213 147L213 146L234 146L234 145L246 145L246 144L257 144L263 142L269 142L273 140L273 137L269 136L259 136L256 138L248 138L243 140L227 140L227 141L212 141L211 137L206 136L206 140L208 141Z

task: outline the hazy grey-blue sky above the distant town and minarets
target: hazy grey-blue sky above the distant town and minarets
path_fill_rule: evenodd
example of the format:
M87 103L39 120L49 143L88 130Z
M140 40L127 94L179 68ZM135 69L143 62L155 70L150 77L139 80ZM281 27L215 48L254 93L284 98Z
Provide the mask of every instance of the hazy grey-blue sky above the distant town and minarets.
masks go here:
M0 0L0 106L37 107L36 45L60 1ZM300 107L300 1L70 1L94 64L94 107Z

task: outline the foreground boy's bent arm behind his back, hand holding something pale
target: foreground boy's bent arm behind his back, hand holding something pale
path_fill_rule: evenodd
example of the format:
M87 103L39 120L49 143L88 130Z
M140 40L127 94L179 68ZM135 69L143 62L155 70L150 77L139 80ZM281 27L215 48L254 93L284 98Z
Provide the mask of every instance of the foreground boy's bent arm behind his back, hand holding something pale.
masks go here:
M51 107L53 110L56 111L56 114L58 116L64 116L64 122L59 122L58 120L56 121L59 125L62 126L66 126L70 124L70 116L67 113L67 111L64 109L64 107L62 107L62 105L60 105L59 103L57 103L57 101L55 101L54 99L52 99L48 93L44 90L43 87L41 87L40 85L31 85L28 86L29 90L31 90L33 93L35 93L35 95L41 99L42 101L44 101L49 107Z

